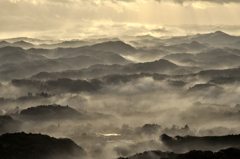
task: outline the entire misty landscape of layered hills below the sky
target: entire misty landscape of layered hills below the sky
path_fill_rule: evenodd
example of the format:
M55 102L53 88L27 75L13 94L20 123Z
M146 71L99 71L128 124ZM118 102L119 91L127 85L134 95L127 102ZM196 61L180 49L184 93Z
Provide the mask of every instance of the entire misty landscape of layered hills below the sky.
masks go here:
M240 36L0 40L0 159L239 159Z

